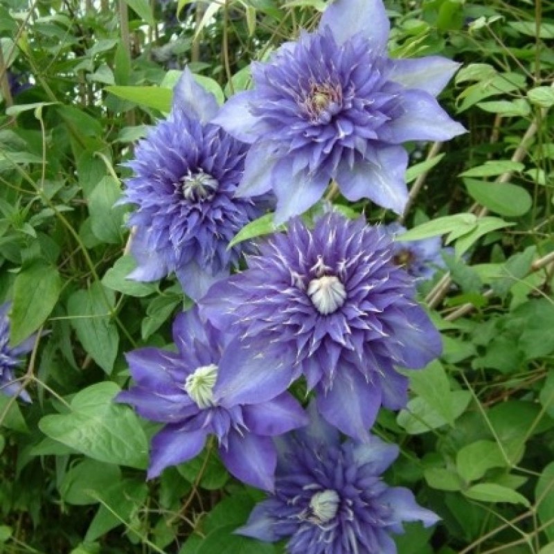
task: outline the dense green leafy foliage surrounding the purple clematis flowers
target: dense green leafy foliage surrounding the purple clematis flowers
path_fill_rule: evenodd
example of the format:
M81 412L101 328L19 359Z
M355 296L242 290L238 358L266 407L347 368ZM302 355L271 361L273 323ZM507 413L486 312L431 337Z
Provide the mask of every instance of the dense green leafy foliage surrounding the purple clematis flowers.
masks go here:
M413 144L411 238L455 249L421 299L440 361L375 432L400 445L386 474L442 521L409 525L401 554L554 552L554 7L541 0L386 1L393 57L463 64L440 97L468 133ZM124 352L163 346L174 280L125 280L127 208L114 207L145 125L184 64L224 100L248 65L312 29L319 0L0 0L0 299L12 343L38 331L0 395L0 552L271 554L231 535L262 494L208 448L145 481L156 430L111 399ZM346 202L337 197L337 204ZM348 206L372 222L391 214ZM265 229L254 229L262 232ZM296 391L302 397L302 391Z

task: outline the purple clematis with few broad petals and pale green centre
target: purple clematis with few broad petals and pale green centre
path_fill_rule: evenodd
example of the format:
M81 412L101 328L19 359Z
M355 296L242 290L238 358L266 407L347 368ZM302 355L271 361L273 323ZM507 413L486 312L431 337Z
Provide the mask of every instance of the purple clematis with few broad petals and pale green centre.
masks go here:
M137 386L117 397L143 418L165 424L152 440L148 478L194 458L208 435L215 435L229 472L272 490L276 450L270 437L306 425L303 409L289 393L243 404L220 391L220 379L233 371L227 339L203 325L196 309L177 316L173 339L177 352L141 348L127 354Z

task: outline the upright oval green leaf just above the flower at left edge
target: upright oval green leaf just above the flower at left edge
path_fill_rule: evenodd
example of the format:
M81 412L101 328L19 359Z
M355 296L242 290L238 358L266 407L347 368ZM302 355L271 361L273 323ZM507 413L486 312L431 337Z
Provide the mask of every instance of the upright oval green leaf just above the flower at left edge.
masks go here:
M51 314L62 291L55 267L34 262L15 278L10 314L10 343L16 346L36 331Z

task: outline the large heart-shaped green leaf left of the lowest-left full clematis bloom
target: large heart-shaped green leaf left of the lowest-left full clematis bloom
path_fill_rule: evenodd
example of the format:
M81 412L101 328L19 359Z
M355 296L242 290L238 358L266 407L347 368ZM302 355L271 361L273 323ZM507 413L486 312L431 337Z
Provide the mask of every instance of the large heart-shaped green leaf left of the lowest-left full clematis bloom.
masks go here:
M44 416L39 429L93 460L143 470L148 441L134 411L114 402L118 392L112 382L84 388L71 400L70 413Z

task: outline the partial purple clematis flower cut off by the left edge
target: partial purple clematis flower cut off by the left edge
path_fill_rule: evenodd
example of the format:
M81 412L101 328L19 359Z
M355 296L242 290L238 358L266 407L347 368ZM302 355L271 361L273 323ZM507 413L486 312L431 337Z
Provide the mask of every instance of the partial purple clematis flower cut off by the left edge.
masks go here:
M21 365L21 357L33 350L37 334L31 335L21 344L10 347L10 319L8 311L10 303L0 306L0 392L8 396L19 395L21 399L30 402L27 391L15 379L14 370Z

